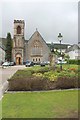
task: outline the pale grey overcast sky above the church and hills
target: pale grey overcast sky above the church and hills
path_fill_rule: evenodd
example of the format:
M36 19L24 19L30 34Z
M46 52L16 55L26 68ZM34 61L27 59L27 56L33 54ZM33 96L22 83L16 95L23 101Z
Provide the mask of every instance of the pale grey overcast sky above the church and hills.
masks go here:
M0 37L6 37L7 32L10 32L13 37L14 19L21 19L25 21L27 40L37 28L46 42L57 43L60 32L63 35L62 43L78 42L78 2L22 1L2 2Z

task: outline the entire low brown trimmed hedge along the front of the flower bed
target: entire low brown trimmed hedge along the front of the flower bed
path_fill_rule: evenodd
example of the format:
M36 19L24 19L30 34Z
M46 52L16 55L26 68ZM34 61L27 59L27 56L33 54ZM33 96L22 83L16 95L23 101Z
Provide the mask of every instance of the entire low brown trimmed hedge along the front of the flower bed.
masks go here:
M41 77L19 78L9 81L9 91L35 91L70 89L80 87L80 80L77 77L59 77L56 81L50 81Z

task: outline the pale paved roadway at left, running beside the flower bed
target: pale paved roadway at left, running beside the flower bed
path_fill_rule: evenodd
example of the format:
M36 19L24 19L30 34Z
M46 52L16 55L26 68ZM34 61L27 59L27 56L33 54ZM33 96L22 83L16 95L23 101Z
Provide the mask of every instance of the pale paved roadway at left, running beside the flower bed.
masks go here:
M19 69L24 69L24 65L9 66L5 68L0 67L0 99L8 87L8 79Z

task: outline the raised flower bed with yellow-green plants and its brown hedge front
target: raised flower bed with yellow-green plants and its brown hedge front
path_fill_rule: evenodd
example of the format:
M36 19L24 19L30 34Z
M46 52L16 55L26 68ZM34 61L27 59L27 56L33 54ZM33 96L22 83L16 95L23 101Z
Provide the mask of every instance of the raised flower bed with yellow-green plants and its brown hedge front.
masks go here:
M11 87L10 90L77 88L79 73L78 65L63 65L62 71L58 67L56 70L52 70L49 66L34 66L18 70L9 79L9 88Z

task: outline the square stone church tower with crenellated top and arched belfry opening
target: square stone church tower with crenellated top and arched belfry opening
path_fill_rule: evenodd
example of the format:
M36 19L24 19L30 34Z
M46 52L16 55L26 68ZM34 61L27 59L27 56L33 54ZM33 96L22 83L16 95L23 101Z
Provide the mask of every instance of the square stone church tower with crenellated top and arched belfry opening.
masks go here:
M24 61L24 20L14 20L13 61L16 65Z

